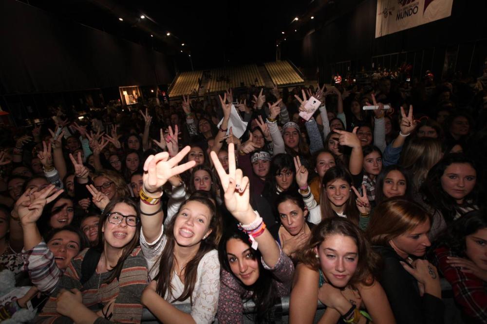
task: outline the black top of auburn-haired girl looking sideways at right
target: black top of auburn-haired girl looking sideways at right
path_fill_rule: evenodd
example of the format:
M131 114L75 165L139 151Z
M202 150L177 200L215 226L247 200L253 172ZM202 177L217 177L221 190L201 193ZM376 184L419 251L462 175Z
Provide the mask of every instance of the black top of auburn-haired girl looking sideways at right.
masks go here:
M406 260L391 247L374 246L374 250L382 256L379 282L387 294L396 323L444 323L445 305L442 300L428 293L420 296L417 280L399 263Z

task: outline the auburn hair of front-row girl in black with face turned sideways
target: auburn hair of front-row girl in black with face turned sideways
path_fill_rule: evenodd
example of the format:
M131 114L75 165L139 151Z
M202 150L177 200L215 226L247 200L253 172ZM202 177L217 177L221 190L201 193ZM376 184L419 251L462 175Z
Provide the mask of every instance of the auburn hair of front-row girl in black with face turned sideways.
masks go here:
M374 245L389 246L389 241L430 221L431 215L404 197L391 197L377 205L366 235Z

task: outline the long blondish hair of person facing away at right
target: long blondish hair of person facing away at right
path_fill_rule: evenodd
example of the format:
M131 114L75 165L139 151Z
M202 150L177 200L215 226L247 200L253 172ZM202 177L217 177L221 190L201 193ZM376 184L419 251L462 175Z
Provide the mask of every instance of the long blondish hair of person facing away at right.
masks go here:
M443 156L441 142L437 138L413 138L401 154L400 165L411 171L413 191L417 190L428 175L428 171Z

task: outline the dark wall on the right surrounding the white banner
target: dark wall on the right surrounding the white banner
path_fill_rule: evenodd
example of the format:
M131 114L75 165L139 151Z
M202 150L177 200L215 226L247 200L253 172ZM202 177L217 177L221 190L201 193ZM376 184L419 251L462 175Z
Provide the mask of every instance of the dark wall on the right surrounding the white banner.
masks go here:
M426 69L441 75L447 52L456 52L456 70L477 74L481 69L487 55L487 1L454 0L450 17L379 38L375 38L377 0L353 2L336 1L333 14L314 22L316 31L281 44L282 59L291 59L308 77L319 66L325 82L330 80L334 63L350 61L352 72L371 70L374 56L396 52L409 53L386 57L385 65L393 68L395 62L400 65L407 60L414 63L418 75Z

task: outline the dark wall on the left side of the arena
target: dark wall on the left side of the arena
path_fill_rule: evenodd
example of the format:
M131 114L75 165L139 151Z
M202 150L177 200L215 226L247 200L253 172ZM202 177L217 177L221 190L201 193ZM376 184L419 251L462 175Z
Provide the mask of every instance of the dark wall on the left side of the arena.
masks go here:
M165 54L62 20L15 0L0 1L0 93L170 83Z

